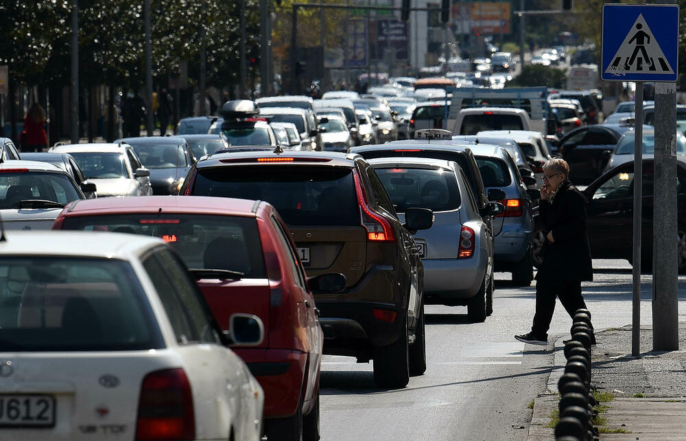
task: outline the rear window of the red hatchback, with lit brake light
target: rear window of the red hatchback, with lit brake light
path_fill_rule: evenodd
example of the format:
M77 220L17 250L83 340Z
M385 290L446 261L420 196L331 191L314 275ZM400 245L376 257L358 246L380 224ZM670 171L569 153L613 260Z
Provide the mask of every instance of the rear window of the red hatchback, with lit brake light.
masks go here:
M154 236L169 243L188 268L237 271L266 277L255 218L208 214L69 216L62 229Z

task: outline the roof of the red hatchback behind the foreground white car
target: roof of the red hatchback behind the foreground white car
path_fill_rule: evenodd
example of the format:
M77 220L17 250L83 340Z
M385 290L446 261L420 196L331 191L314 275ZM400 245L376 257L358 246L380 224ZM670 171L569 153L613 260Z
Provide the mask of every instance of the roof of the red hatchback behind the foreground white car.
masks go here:
M255 217L256 201L206 196L104 197L77 201L64 211L67 216L104 213L221 214Z

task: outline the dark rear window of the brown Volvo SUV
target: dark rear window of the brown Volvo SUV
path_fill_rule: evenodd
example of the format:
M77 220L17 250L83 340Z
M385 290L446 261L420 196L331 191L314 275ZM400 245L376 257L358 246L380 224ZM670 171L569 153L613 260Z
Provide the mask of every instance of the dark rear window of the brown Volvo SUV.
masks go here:
M348 167L199 168L192 194L267 201L288 225L359 225L353 171Z

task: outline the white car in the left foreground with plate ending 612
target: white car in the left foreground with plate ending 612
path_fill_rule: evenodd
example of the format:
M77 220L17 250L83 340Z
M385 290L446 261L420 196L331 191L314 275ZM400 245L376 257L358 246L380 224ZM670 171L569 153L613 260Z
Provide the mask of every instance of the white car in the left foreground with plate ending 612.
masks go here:
M18 231L0 279L3 441L260 439L263 391L162 240Z

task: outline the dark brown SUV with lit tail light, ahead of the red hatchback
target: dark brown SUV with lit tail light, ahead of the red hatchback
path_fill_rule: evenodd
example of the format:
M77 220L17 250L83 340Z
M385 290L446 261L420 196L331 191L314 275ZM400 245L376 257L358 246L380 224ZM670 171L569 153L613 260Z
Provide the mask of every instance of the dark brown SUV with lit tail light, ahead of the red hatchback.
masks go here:
M314 292L324 353L374 360L379 386L406 386L410 375L426 370L424 266L412 234L431 227L433 212L409 208L403 225L362 156L281 152L220 152L198 160L180 194L274 205L309 277L346 276L342 292ZM272 307L280 296L273 288Z

